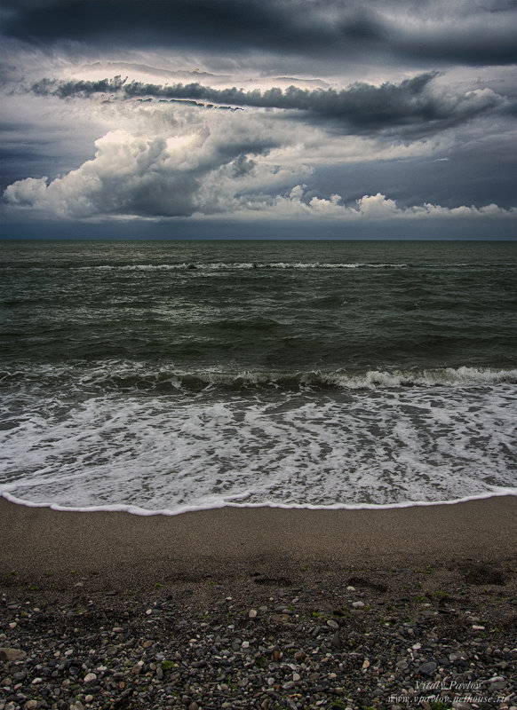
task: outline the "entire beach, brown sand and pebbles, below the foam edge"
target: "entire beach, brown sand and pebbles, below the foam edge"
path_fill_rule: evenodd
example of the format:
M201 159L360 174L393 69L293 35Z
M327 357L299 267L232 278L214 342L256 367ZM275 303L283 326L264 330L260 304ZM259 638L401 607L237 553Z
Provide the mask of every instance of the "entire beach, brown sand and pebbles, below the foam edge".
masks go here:
M0 500L0 710L510 710L516 513Z

